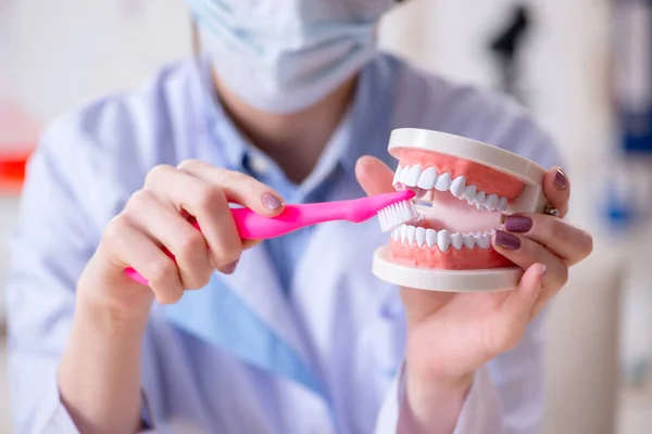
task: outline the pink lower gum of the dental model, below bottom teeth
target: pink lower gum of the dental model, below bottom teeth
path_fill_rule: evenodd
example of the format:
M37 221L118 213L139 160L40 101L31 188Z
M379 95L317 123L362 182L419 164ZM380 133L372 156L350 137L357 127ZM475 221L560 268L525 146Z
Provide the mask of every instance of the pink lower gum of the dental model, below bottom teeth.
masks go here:
M408 246L389 241L389 252L397 264L412 267L426 267L446 270L481 270L489 268L513 267L514 264L493 248L466 248L457 251L450 247L446 252L439 248Z

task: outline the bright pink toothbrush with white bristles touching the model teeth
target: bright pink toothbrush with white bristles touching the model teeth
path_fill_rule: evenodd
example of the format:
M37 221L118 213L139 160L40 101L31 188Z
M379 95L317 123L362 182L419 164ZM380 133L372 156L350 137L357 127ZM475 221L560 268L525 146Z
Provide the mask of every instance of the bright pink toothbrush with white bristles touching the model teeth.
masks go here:
M286 205L276 217L263 217L249 208L231 208L231 214L242 240L267 240L326 221L348 220L358 224L376 215L380 230L388 232L418 217L411 201L414 195L414 191L404 190L351 201ZM201 230L197 222L192 225ZM174 259L168 251L165 250L165 254ZM136 282L148 284L147 279L135 269L129 267L125 272Z

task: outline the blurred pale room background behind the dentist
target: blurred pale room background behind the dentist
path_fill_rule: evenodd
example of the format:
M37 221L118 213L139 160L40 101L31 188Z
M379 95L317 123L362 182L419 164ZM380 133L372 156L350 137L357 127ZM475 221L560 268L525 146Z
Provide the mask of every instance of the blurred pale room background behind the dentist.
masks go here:
M517 98L566 157L568 218L595 250L549 317L550 434L652 432L651 4L410 0L379 33L386 50ZM43 128L190 53L181 0L0 0L1 281L24 161ZM11 433L1 337L0 369L0 433Z

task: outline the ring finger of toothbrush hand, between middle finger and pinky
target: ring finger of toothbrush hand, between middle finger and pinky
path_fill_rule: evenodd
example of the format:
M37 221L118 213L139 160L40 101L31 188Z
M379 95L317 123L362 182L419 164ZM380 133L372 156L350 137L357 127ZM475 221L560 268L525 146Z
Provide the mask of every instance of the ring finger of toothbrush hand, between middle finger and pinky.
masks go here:
M128 220L175 257L181 284L204 288L213 272L204 237L188 220L149 190L135 193L125 207Z

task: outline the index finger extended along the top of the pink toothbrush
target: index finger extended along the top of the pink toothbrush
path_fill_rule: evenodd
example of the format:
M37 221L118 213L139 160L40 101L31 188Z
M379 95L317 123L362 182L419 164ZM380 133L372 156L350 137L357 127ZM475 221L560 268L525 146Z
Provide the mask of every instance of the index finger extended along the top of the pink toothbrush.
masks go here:
M280 194L239 171L217 168L197 159L185 161L178 168L220 187L228 201L246 206L260 215L277 216L284 209L285 203Z

